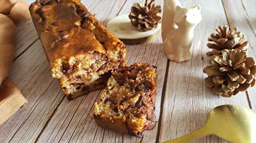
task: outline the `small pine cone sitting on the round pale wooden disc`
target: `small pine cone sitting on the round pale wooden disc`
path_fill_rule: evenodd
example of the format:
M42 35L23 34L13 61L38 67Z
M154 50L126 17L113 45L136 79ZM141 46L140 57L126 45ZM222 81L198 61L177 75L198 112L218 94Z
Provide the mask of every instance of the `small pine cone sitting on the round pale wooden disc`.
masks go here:
M155 0L152 0L150 3L148 3L148 0L145 0L143 6L139 3L134 3L129 18L133 26L143 32L157 27L161 21L161 17L158 14L161 12L161 6L155 6Z

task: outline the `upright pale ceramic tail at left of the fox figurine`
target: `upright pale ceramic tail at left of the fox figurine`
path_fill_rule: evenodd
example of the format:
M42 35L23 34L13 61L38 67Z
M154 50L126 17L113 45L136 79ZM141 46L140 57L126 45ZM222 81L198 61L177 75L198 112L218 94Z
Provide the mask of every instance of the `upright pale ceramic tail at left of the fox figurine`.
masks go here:
M179 0L164 0L162 20L162 40L164 41L170 30L178 28L174 23L176 7L181 6Z

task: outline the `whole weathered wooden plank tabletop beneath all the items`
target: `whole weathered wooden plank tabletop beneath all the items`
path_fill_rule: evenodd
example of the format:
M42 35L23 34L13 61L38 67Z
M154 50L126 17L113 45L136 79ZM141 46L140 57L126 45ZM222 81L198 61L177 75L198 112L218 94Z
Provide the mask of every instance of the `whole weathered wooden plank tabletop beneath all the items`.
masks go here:
M105 25L111 18L127 14L138 0L94 0L83 4ZM142 2L142 1L139 1ZM163 0L157 0L163 5ZM203 126L210 109L236 104L256 109L256 88L232 98L215 95L205 87L203 68L207 37L218 25L238 26L249 41L249 55L256 55L256 1L194 0L183 6L201 4L203 20L195 29L190 61L174 63L163 53L160 35L141 45L127 46L127 64L149 62L158 67L157 125L142 138L104 130L92 117L93 104L100 91L68 101L57 80L51 77L49 63L32 21L17 28L17 51L12 78L28 103L0 126L0 142L161 142L176 138ZM227 121L228 122L228 121ZM210 135L195 142L225 142Z

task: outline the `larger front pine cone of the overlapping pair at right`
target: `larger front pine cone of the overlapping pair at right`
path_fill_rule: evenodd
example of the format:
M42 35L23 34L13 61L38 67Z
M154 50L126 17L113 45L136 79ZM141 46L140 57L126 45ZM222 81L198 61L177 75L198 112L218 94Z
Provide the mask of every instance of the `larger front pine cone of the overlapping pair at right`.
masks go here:
M206 87L223 97L231 97L253 87L256 80L254 59L241 49L225 49L221 55L210 57L210 66L203 70Z

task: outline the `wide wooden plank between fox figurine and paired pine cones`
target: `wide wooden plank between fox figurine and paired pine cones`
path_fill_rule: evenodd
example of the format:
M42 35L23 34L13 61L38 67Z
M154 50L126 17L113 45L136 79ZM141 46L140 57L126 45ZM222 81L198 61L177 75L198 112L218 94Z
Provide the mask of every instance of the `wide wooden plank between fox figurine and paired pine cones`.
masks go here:
M221 1L182 1L183 6L200 4L203 20L195 29L192 58L184 63L169 63L167 84L161 117L159 141L176 138L205 125L210 109L222 104L248 107L245 93L232 98L215 95L205 87L203 68L208 65L207 37L218 25L226 24ZM216 136L207 136L195 142L223 142Z

